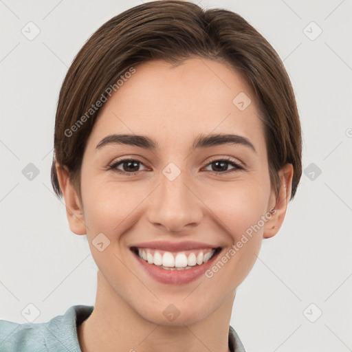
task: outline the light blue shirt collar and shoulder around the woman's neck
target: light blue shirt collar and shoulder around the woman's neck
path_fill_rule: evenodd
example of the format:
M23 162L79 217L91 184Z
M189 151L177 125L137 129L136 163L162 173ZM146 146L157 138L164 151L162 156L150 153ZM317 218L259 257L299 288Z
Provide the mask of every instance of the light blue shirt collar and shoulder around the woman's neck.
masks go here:
M0 320L1 352L82 352L77 337L77 325L86 320L93 306L74 305L63 316L49 322L18 324ZM230 351L245 352L239 336L230 326Z

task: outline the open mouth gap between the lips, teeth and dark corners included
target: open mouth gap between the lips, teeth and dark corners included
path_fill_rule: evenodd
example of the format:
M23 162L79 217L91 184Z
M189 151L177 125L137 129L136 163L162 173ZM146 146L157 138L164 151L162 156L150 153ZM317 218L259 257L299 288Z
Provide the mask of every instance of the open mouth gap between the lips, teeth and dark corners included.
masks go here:
M179 252L137 247L131 247L131 250L143 261L164 270L189 270L192 267L199 267L208 262L215 254L221 251L221 247Z

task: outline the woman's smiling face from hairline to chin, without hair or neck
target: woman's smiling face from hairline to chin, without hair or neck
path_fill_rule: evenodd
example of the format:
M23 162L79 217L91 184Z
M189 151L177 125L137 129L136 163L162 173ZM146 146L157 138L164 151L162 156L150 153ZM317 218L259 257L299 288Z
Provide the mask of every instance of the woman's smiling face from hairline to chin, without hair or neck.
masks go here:
M190 324L234 298L274 234L264 128L252 90L225 65L194 58L135 70L89 136L85 225L72 230L87 233L111 299L156 324Z

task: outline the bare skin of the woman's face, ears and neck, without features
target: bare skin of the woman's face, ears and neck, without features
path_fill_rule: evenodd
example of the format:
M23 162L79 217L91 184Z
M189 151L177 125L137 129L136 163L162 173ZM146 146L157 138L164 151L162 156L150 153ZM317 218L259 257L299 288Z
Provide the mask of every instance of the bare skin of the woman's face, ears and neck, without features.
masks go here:
M279 171L276 195L256 98L234 69L199 58L175 67L153 61L135 68L104 103L89 136L82 199L69 183L67 169L56 166L69 227L75 234L87 234L98 266L96 304L78 327L80 347L83 352L164 352L166 346L169 352L230 351L228 327L236 287L252 269L263 238L281 228L291 195L292 165ZM244 111L232 102L240 92L252 100ZM96 149L111 133L148 136L159 148L109 144ZM200 133L247 137L256 153L235 144L192 151ZM142 163L135 166L135 175L108 169L126 157ZM243 170L229 163L221 171L214 166L221 157L230 157ZM162 173L170 162L181 171L173 181ZM129 170L126 167L118 166L122 171ZM145 274L129 249L142 241L190 240L221 246L221 258L274 207L271 219L212 278L201 276L178 286L159 283ZM99 233L110 241L102 252L92 244ZM163 314L170 304L180 312L173 322Z

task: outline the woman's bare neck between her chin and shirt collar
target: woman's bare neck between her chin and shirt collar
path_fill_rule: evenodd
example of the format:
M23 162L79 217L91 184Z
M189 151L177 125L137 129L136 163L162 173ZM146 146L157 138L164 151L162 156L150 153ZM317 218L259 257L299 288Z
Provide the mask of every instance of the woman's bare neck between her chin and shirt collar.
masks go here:
M82 352L230 352L228 329L234 293L208 317L190 325L157 325L118 296L98 272L94 310L78 326Z

